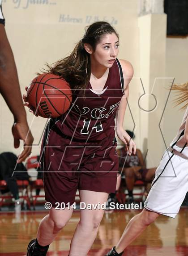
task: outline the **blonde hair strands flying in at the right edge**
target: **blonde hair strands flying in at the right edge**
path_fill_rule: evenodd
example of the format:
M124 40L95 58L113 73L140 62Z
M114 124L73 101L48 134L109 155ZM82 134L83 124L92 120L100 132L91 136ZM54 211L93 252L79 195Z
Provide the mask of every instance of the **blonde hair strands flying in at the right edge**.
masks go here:
M184 109L188 107L188 82L184 84L174 84L171 87L171 90L176 90L176 93L178 93L178 97L174 99L175 106L184 103L184 106L180 109Z

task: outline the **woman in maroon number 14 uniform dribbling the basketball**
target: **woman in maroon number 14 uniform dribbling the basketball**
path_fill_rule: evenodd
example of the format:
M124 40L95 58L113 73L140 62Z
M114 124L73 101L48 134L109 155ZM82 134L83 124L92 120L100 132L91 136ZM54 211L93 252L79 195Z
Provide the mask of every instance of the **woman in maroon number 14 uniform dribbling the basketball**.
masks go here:
M115 192L114 128L128 153L136 152L123 129L133 69L128 61L117 59L118 46L115 29L107 22L95 22L70 56L50 67L49 72L70 84L73 102L62 117L50 120L44 133L41 167L46 200L52 208L39 225L37 239L29 243L27 256L46 255L72 216L77 189L81 202L98 205L95 210L81 210L70 245L69 256L86 256L103 217L99 206L107 201L108 193Z

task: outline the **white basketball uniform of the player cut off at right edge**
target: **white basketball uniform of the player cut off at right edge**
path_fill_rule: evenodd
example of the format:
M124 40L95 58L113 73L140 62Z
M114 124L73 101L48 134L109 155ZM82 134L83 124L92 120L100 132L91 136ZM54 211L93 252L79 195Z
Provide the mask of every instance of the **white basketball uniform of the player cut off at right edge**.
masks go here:
M184 139L188 107L179 131L162 156L144 207L175 218L188 192L188 143Z

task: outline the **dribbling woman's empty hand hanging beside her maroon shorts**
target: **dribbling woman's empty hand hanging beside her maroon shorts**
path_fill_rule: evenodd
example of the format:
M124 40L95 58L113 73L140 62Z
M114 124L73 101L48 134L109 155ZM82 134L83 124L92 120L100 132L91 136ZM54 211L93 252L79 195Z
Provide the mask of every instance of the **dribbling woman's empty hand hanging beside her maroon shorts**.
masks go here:
M136 154L136 144L134 141L131 139L131 137L128 135L128 133L123 129L123 128L117 128L116 129L116 134L118 138L123 141L123 143L126 145L125 150L128 152L129 156L133 153L134 155Z

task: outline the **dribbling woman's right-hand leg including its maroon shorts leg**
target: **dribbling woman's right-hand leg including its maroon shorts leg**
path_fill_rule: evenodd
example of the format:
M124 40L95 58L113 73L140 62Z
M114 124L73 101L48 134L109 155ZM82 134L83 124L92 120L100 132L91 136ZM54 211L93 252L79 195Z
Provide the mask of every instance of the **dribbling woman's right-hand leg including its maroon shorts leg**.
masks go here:
M85 148L85 158L79 171L80 200L86 204L102 205L108 194L115 192L117 183L118 157L115 143L109 138L92 147ZM89 157L88 157L89 156ZM86 256L96 238L104 210L83 209L81 220L71 242L69 256Z

